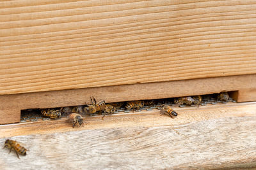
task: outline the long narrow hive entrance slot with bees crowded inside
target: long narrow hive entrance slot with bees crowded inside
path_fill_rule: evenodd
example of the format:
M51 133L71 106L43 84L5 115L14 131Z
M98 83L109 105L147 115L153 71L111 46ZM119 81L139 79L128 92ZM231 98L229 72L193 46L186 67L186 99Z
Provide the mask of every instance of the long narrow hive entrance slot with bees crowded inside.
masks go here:
M83 117L104 116L121 113L146 113L151 110L161 110L161 106L167 104L172 108L184 107L199 107L207 104L225 104L229 102L236 102L237 91L221 92L220 94L205 94L201 96L183 96L172 97L164 99L152 99L141 101L125 101L118 103L104 103L104 109L101 111L92 111L97 108L97 104L84 104L79 106L66 106L59 108L44 108L44 109L28 109L21 110L20 122L38 122L45 120L58 120L60 118L67 118L70 113L79 113ZM99 101L99 105L102 101ZM46 114L47 113L47 114ZM50 115L58 115L50 117Z

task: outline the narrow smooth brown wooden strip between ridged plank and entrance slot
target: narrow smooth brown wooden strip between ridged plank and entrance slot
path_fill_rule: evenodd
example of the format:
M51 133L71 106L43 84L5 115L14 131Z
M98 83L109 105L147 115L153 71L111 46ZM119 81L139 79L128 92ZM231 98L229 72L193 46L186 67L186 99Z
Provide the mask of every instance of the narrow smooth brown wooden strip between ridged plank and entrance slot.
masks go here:
M10 115L8 110L29 108L56 108L63 106L77 106L90 103L90 96L106 103L145 99L161 99L180 96L194 96L213 94L222 91L236 91L239 89L253 89L256 87L256 74L243 76L227 76L219 78L201 78L195 80L165 81L158 83L138 83L132 85L118 85L111 87L95 87L86 89L57 90L50 92L34 92L26 94L12 94L0 96L0 124L19 122L17 117ZM252 97L250 97L252 99ZM246 98L244 96L244 100ZM3 115L4 113L4 115Z

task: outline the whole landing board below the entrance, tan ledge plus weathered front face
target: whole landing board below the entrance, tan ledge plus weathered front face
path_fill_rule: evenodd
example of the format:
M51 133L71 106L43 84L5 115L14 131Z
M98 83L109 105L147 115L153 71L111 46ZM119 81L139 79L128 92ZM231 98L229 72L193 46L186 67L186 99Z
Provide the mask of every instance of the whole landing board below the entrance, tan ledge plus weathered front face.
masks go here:
M180 113L175 119L155 110L90 117L75 129L62 120L1 125L0 143L12 136L29 151L19 160L1 149L0 169L256 167L255 102L175 110Z

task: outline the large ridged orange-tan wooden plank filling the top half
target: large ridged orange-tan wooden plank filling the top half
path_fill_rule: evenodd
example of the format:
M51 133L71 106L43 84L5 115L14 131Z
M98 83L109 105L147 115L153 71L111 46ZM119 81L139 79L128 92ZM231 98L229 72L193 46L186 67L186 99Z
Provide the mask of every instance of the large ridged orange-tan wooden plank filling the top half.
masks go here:
M256 2L0 2L0 95L256 73Z

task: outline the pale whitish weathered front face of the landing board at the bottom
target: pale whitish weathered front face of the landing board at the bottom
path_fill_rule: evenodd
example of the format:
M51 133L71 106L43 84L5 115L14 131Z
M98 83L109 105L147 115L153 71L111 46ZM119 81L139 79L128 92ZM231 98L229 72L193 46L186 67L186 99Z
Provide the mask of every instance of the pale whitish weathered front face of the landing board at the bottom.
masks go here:
M255 122L254 115L15 136L28 155L19 160L1 149L0 169L250 169L256 167Z

